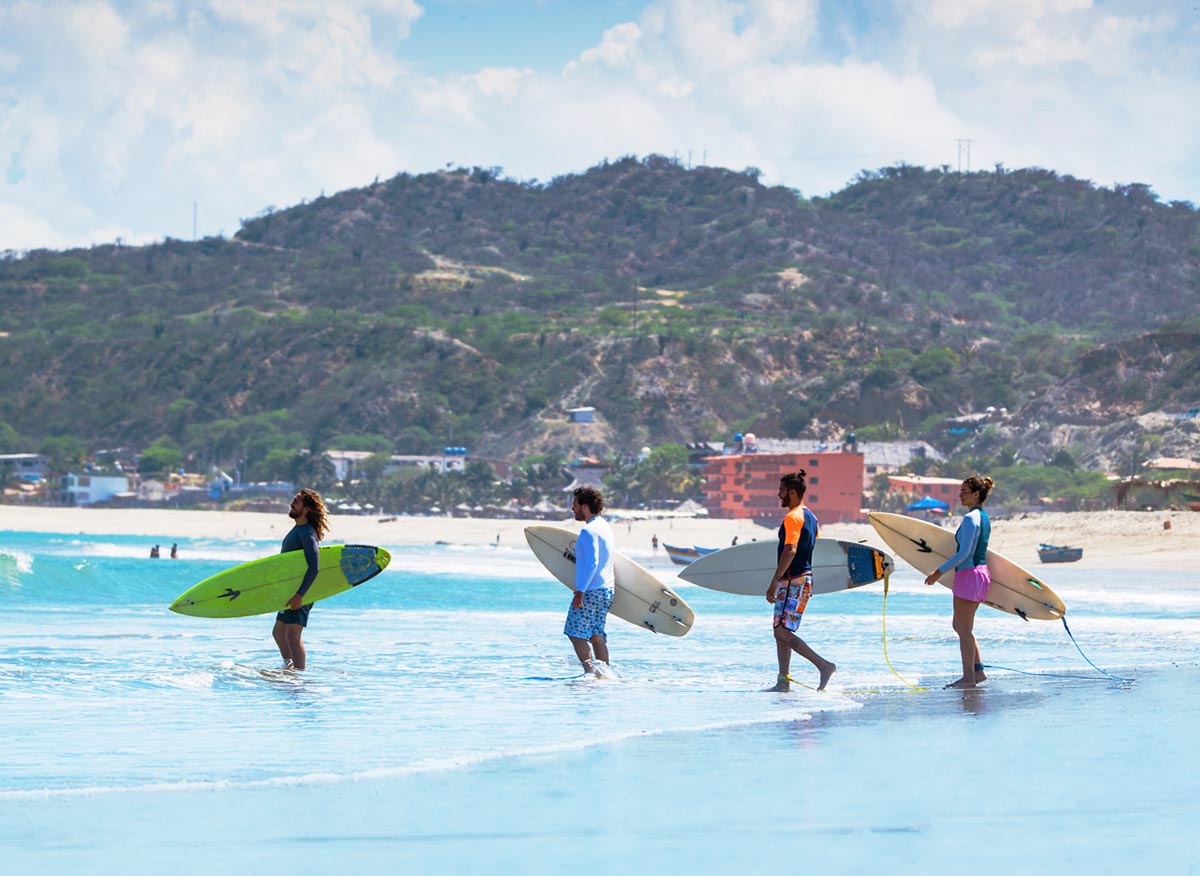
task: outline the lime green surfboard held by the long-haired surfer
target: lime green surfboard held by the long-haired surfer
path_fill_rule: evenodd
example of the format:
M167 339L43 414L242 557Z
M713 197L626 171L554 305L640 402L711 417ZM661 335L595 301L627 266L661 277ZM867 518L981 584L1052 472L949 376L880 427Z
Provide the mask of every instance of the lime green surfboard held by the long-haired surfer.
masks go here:
M336 596L388 568L391 554L370 545L330 545L319 551L320 571L305 605ZM173 612L198 618L244 618L287 608L308 564L304 551L276 553L205 578L170 604Z

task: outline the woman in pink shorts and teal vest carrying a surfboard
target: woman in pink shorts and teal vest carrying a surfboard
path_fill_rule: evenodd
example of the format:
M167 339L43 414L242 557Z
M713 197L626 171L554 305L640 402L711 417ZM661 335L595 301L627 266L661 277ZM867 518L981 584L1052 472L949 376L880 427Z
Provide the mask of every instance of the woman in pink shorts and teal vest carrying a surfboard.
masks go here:
M974 688L986 680L983 658L974 637L974 616L979 604L988 598L991 575L988 572L988 540L991 538L991 521L982 505L991 492L991 478L972 475L959 488L959 502L967 509L954 533L958 550L925 577L926 584L935 584L950 569L954 570L954 631L959 634L959 653L962 656L962 677L947 688Z

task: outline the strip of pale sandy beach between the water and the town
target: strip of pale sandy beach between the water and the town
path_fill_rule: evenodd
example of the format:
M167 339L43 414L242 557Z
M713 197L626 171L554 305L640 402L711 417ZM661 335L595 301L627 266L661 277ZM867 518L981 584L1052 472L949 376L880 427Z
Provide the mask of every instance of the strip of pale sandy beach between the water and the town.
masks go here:
M774 538L774 530L750 521L703 517L631 518L611 514L618 546L638 557L650 554L650 540L672 545L725 547L738 541ZM331 541L412 546L451 542L463 545L523 545L529 523L562 521L491 520L402 516L394 518L336 515ZM950 523L953 526L953 521ZM1166 526L1169 524L1169 526ZM283 514L250 511L179 511L157 509L24 508L0 505L0 528L12 532L58 532L88 535L144 535L169 548L182 538L281 539L289 521ZM865 541L886 548L866 523L823 526L822 536ZM991 546L1013 560L1040 566L1038 542L1084 548L1074 568L1189 569L1200 571L1200 514L1192 511L1094 511L1028 514L995 518ZM166 550L163 551L166 553ZM1046 566L1043 566L1046 568ZM1052 566L1049 566L1052 568Z

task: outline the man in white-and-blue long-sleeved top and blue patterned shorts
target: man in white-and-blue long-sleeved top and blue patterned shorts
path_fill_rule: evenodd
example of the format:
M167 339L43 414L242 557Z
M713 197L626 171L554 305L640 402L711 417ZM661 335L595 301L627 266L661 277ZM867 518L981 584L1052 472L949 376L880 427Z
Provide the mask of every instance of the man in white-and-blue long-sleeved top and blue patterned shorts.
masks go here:
M563 632L571 640L583 672L602 676L596 661L608 667L608 636L605 622L612 605L612 527L600 516L604 497L595 487L577 487L571 502L575 520L583 523L575 540L575 595L566 612Z

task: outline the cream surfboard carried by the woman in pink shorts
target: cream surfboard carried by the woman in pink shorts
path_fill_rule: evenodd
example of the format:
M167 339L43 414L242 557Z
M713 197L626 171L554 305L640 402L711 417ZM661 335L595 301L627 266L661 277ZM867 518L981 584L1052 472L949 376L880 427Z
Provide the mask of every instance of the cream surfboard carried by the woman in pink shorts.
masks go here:
M870 521L888 547L922 575L929 575L958 550L953 532L916 517L871 511ZM984 602L992 608L1026 620L1057 620L1067 613L1058 594L1037 575L995 551L988 551L988 572L991 586ZM954 570L942 575L938 583L953 589Z

